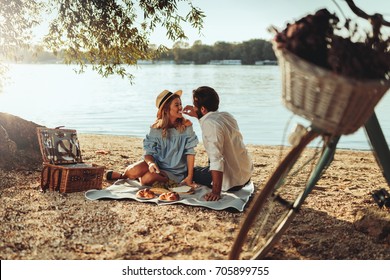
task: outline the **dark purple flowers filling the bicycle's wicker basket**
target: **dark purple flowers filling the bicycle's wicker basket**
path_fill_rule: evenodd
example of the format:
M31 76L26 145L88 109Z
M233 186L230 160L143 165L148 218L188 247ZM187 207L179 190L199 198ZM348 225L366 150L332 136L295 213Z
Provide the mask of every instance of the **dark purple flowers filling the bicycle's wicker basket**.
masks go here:
M321 9L314 15L288 24L277 33L275 41L279 47L340 75L358 79L389 79L389 42L382 38L378 24L373 23L373 35L367 34L364 41L356 41L358 27L351 26L349 20L346 20L344 28L339 23L335 14ZM349 37L336 35L340 30L348 31Z

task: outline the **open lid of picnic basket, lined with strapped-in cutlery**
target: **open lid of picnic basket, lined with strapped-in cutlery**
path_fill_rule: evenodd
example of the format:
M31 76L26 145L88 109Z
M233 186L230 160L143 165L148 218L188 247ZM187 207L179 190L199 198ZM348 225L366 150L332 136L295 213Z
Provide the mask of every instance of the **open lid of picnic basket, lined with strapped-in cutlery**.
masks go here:
M44 163L82 163L77 132L73 129L37 128Z

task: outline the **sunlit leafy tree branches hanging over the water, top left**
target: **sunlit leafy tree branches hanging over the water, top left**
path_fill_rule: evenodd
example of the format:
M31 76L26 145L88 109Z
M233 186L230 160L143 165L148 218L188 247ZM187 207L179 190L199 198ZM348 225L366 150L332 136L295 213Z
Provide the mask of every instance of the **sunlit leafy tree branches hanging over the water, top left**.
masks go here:
M185 15L179 13L181 2L188 4ZM16 50L31 44L32 30L42 24L45 13L53 19L44 48L61 53L65 63L79 65L80 71L92 64L103 76L130 79L124 65L167 50L163 45L149 48L157 27L165 29L170 40L182 40L187 39L182 24L200 31L204 18L190 0L1 0L0 57L12 58Z

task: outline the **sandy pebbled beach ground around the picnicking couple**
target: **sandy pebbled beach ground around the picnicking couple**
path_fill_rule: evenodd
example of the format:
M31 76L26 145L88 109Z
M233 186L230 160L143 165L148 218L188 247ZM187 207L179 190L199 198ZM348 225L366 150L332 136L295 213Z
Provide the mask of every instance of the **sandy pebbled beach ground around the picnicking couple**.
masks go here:
M107 169L122 170L142 155L138 138L81 134L79 140L84 161ZM248 149L258 192L275 169L280 148ZM196 164L206 161L199 145ZM89 201L83 192L43 193L39 170L0 170L0 178L2 260L226 259L245 215L180 204ZM111 183L104 180L103 187ZM370 195L380 188L389 190L371 152L338 150L268 258L390 259L390 209L380 209Z

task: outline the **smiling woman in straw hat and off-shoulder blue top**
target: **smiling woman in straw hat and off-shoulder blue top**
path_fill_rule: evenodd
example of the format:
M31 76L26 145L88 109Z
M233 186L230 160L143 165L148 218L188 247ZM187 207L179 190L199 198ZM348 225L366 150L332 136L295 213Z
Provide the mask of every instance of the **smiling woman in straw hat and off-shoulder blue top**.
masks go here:
M157 120L146 135L143 160L128 166L124 173L108 171L108 180L138 179L142 185L167 182L193 185L195 147L198 138L192 123L182 115L182 91L161 92L156 99Z

